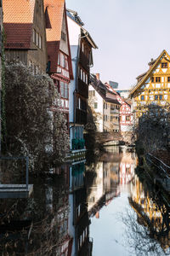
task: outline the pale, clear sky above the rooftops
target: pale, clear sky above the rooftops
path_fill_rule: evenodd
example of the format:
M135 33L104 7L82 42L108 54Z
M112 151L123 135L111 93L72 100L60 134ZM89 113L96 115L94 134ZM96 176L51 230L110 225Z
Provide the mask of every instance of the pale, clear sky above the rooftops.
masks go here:
M103 82L120 89L136 84L151 58L170 55L170 0L65 0L76 10L99 49L94 67Z

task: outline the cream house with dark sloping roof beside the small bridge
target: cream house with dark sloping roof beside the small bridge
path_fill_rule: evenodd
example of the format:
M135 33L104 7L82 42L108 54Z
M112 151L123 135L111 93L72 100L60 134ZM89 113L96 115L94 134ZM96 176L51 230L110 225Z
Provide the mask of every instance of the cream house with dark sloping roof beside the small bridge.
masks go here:
M116 99L116 92L99 80L99 74L90 76L88 91L88 122L93 118L99 132L120 131L121 103Z

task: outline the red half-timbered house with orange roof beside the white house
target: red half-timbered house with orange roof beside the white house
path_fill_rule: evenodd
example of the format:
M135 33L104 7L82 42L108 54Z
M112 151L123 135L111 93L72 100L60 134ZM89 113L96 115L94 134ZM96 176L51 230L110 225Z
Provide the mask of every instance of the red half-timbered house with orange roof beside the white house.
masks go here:
M48 66L47 73L61 96L61 110L69 126L69 84L72 75L71 49L66 19L65 0L44 1Z

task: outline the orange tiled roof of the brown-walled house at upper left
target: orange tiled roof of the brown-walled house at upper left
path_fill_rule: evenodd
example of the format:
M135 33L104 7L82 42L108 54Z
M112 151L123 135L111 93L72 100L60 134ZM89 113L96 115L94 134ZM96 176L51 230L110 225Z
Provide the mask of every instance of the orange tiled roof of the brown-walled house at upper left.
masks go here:
M36 0L3 0L5 48L29 49Z

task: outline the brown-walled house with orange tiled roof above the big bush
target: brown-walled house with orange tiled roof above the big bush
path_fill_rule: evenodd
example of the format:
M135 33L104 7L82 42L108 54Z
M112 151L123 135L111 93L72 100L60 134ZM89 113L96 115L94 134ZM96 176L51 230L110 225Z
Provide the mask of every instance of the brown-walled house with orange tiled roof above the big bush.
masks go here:
M3 0L5 57L22 61L32 72L45 72L47 65L43 1Z

